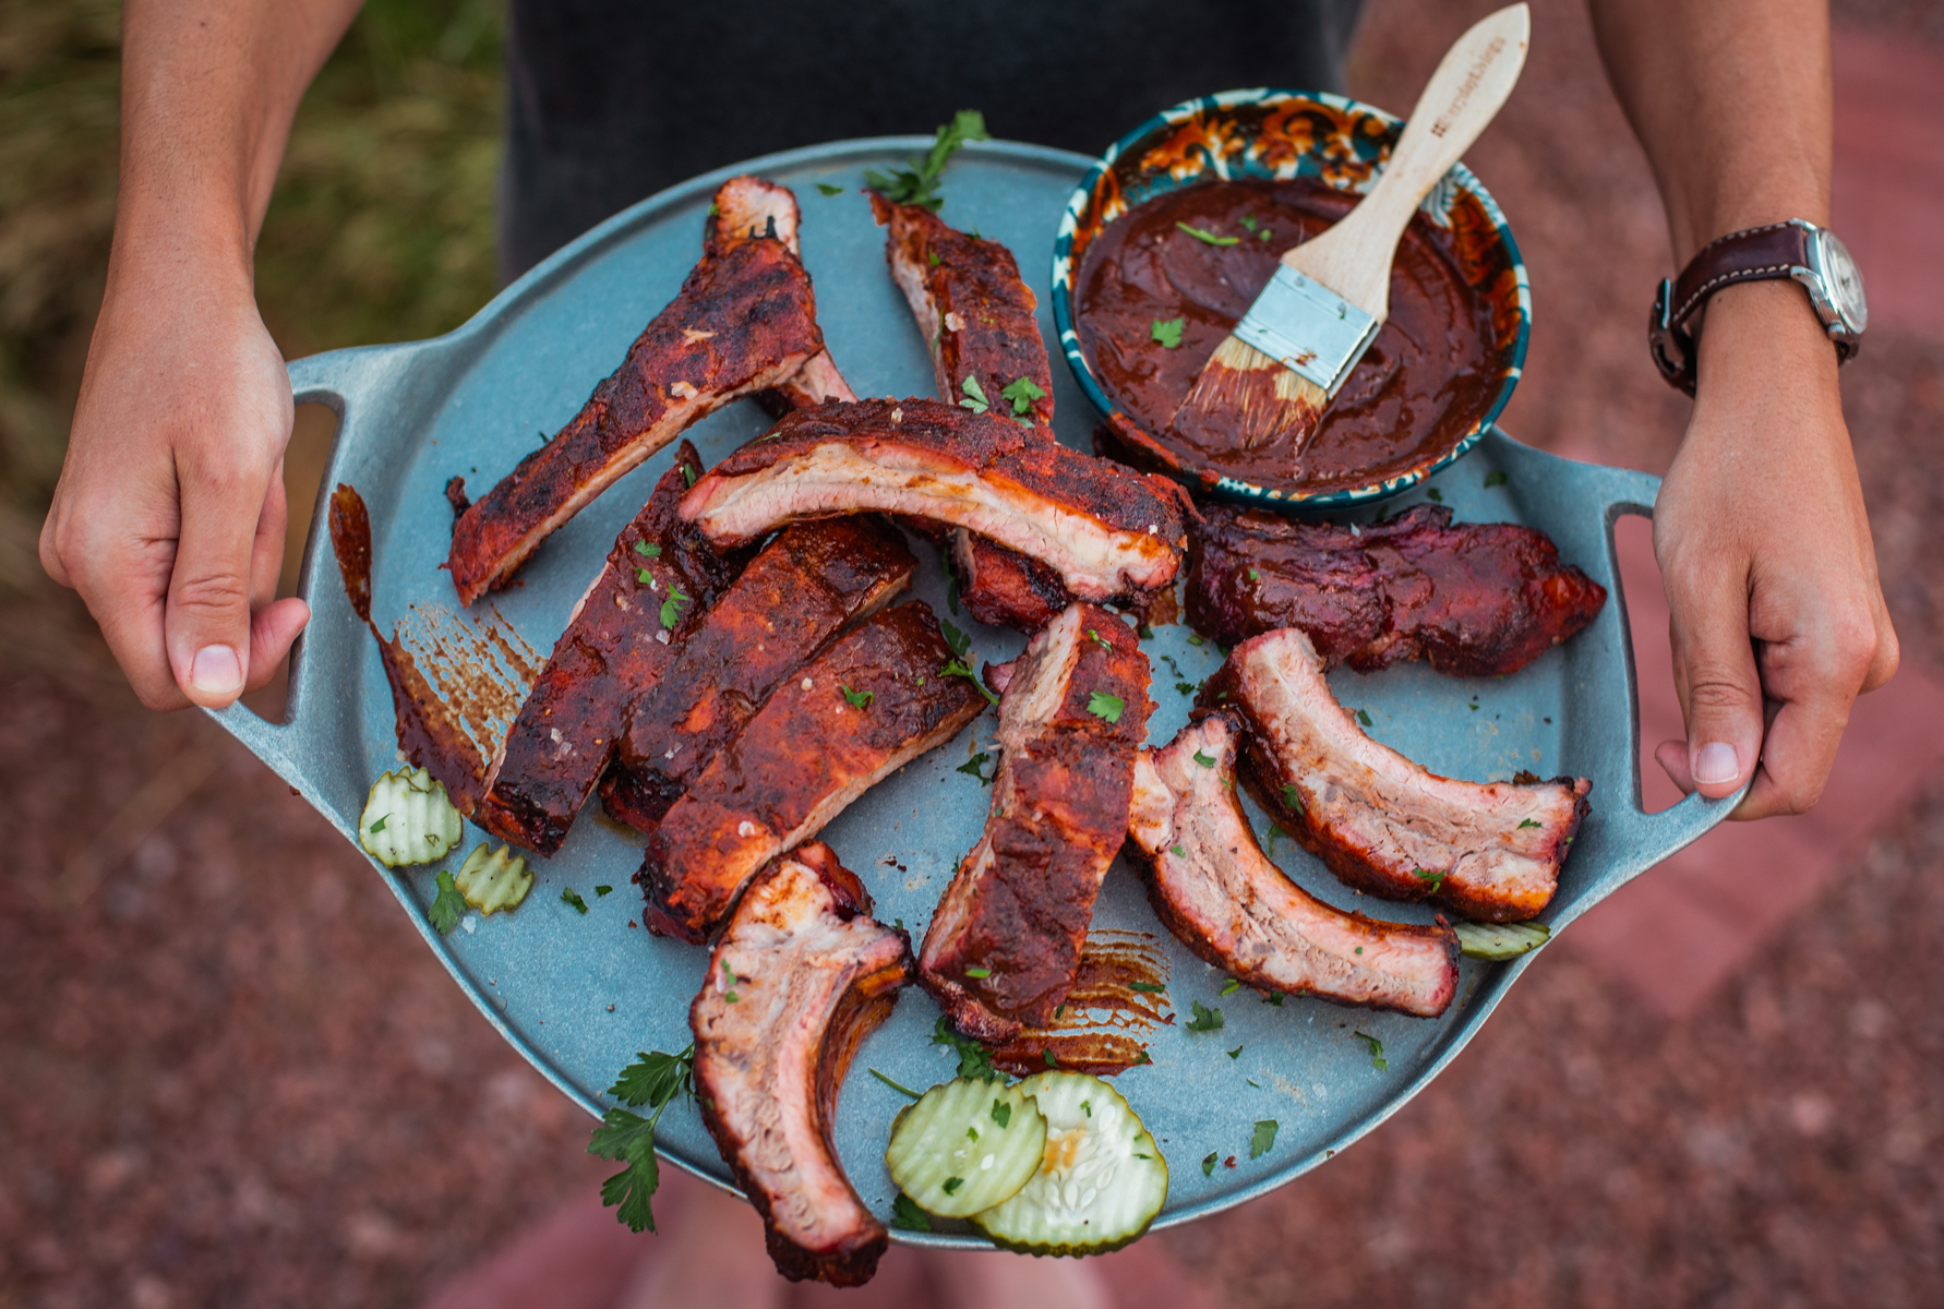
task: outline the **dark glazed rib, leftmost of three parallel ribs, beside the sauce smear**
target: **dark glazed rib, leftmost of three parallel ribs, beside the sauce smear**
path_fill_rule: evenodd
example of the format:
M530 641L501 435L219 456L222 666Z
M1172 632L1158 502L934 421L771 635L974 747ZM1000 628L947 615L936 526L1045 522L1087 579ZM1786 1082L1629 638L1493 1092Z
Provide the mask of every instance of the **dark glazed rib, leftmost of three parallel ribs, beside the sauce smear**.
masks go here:
M527 850L554 854L628 724L628 706L663 675L671 638L694 626L739 560L723 558L675 504L702 473L696 447L682 442L675 465L647 506L608 550L601 576L581 595L554 642L519 718L486 776L472 821ZM675 630L663 628L663 601L690 597Z

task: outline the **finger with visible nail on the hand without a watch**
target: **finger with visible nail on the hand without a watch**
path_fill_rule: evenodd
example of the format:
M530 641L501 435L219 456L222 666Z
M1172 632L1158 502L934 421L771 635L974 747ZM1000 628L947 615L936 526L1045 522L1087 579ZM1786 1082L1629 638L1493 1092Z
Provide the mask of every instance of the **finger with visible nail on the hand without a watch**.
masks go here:
M268 465L189 455L179 469L183 527L163 615L169 665L194 704L222 708L249 681L249 574Z

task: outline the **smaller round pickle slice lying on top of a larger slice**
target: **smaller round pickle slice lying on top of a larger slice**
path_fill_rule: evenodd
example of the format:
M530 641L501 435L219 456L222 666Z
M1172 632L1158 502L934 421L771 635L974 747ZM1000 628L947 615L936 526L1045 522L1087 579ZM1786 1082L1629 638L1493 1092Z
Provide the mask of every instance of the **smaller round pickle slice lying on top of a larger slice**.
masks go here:
M1044 1150L1046 1118L1017 1085L955 1078L898 1113L885 1163L921 1210L968 1218L1019 1190Z

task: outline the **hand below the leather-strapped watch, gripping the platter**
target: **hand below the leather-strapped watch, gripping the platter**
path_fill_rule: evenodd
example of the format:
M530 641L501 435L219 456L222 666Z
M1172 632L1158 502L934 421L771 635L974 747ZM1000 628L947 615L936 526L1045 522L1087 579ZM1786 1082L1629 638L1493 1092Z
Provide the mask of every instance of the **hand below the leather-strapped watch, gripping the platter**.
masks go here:
M1654 552L1687 722L1687 741L1664 741L1654 759L1682 790L1715 797L1753 772L1738 819L1802 813L1851 702L1897 671L1897 636L1835 348L1792 282L1709 301L1701 387L1654 504Z

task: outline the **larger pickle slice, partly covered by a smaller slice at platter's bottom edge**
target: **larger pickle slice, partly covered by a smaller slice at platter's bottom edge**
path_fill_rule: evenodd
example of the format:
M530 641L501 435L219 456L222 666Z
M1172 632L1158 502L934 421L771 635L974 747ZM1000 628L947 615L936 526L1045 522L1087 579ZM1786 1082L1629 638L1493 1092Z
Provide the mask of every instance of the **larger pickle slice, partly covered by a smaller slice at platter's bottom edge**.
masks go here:
M1046 1153L1019 1192L972 1223L1021 1255L1104 1255L1155 1221L1168 1161L1120 1091L1079 1072L1019 1083L1046 1114Z

